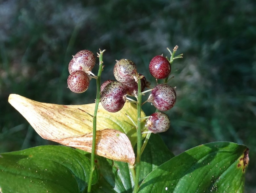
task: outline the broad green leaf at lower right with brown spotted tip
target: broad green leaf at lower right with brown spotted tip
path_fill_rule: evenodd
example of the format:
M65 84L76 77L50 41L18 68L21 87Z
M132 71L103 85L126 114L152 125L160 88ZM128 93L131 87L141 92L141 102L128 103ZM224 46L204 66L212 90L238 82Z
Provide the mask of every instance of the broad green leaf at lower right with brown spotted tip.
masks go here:
M248 153L231 142L197 146L153 170L139 192L243 192Z

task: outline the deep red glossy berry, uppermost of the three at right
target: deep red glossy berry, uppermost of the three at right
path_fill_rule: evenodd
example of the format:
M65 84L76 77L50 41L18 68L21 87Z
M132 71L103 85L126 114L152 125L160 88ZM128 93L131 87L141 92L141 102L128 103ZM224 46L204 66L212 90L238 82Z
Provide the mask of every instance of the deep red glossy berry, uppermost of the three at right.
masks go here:
M163 56L155 56L149 63L149 72L158 79L166 78L171 72L170 62Z

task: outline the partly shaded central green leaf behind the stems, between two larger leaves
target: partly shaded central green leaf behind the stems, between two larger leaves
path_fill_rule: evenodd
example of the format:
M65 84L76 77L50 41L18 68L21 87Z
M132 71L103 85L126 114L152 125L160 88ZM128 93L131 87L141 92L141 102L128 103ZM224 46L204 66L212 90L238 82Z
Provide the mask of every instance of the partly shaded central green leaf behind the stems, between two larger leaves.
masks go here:
M158 134L151 134L141 157L141 181L152 170L174 157ZM100 178L93 186L93 192L132 192L134 186L129 164L97 157L96 165Z

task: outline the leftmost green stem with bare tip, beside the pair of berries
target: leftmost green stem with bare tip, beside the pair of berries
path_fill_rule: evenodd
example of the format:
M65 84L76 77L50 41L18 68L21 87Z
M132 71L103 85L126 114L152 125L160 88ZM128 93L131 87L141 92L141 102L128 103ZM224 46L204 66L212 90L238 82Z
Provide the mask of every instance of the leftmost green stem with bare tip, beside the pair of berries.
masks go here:
M100 77L101 77L101 72L103 69L103 61L102 61L102 57L103 57L103 52L105 50L101 51L100 50L100 54L98 54L99 57L99 70L98 70L98 74L97 74L97 79L96 79L96 84L97 84L97 94L96 94L96 100L95 100L95 109L94 109L94 115L92 118L92 123L93 123L93 133L92 133L92 153L91 153L91 169L90 169L90 176L89 176L89 182L88 182L88 188L87 188L87 192L90 193L91 192L91 188L92 188L92 176L93 176L93 171L95 168L95 164L94 164L94 157L95 157L95 146L96 146L96 121L97 121L97 111L98 111L98 107L99 107L99 103L100 103Z

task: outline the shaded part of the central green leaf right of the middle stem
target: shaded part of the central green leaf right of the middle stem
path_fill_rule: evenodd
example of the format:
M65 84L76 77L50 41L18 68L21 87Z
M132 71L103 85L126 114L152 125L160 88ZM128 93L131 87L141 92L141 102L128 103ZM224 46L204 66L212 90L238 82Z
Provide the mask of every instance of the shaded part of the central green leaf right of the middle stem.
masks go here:
M154 169L174 157L158 134L151 134L141 155L140 183Z

